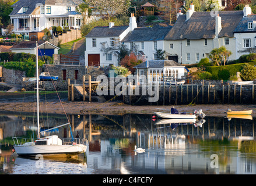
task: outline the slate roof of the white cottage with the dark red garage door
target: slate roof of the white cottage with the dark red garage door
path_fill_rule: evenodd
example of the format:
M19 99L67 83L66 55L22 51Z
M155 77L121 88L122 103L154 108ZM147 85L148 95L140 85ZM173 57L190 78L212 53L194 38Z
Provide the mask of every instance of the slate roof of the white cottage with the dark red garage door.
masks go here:
M128 26L94 27L85 37L118 37Z

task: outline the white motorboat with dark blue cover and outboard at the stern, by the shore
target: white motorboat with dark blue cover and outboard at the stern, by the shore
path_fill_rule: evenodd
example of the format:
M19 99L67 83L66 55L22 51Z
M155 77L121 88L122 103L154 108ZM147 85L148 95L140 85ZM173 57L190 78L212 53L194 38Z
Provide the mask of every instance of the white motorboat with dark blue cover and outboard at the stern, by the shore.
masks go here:
M158 117L169 118L169 119L197 119L198 117L204 118L205 114L202 109L195 110L193 113L179 113L177 109L171 108L171 110L166 109L156 109L155 114Z

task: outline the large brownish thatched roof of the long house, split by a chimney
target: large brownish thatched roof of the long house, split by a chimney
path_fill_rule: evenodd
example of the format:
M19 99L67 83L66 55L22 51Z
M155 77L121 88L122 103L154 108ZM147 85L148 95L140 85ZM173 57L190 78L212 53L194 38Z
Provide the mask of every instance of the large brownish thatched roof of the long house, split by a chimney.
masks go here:
M219 37L233 37L234 29L243 18L243 11L220 11L219 16L222 20ZM180 34L183 34L183 39L189 40L214 38L215 16L212 17L211 12L194 12L187 21L186 15L178 16L173 28L164 39L180 40Z

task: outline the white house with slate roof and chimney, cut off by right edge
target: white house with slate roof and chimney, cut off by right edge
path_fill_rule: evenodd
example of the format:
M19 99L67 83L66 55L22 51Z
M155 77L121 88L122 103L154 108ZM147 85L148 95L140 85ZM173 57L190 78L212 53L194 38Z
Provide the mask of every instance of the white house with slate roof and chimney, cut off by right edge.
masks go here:
M252 15L250 6L244 7L244 17L234 30L236 38L236 59L241 55L256 52L256 15Z

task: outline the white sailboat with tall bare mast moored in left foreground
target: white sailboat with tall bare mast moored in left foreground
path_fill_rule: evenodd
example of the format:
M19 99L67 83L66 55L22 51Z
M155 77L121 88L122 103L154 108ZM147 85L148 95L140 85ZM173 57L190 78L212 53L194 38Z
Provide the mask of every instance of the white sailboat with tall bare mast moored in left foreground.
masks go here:
M38 45L36 44L36 48ZM53 130L58 127L63 127L69 125L71 128L70 123L62 124L61 126L50 128L48 130L44 130L40 132L40 123L39 123L39 80L38 80L38 49L36 49L36 92L37 92L37 140L31 142L24 142L22 144L19 142L18 137L13 137L13 148L14 151L19 156L36 156L36 155L43 155L43 156L72 156L77 155L79 153L84 153L87 149L86 140L80 138L73 139L72 132L71 132L71 140L62 141L58 135L50 135L47 137L40 137L40 133L45 133L46 131ZM71 131L71 130L70 130ZM66 140L66 139L65 139Z

